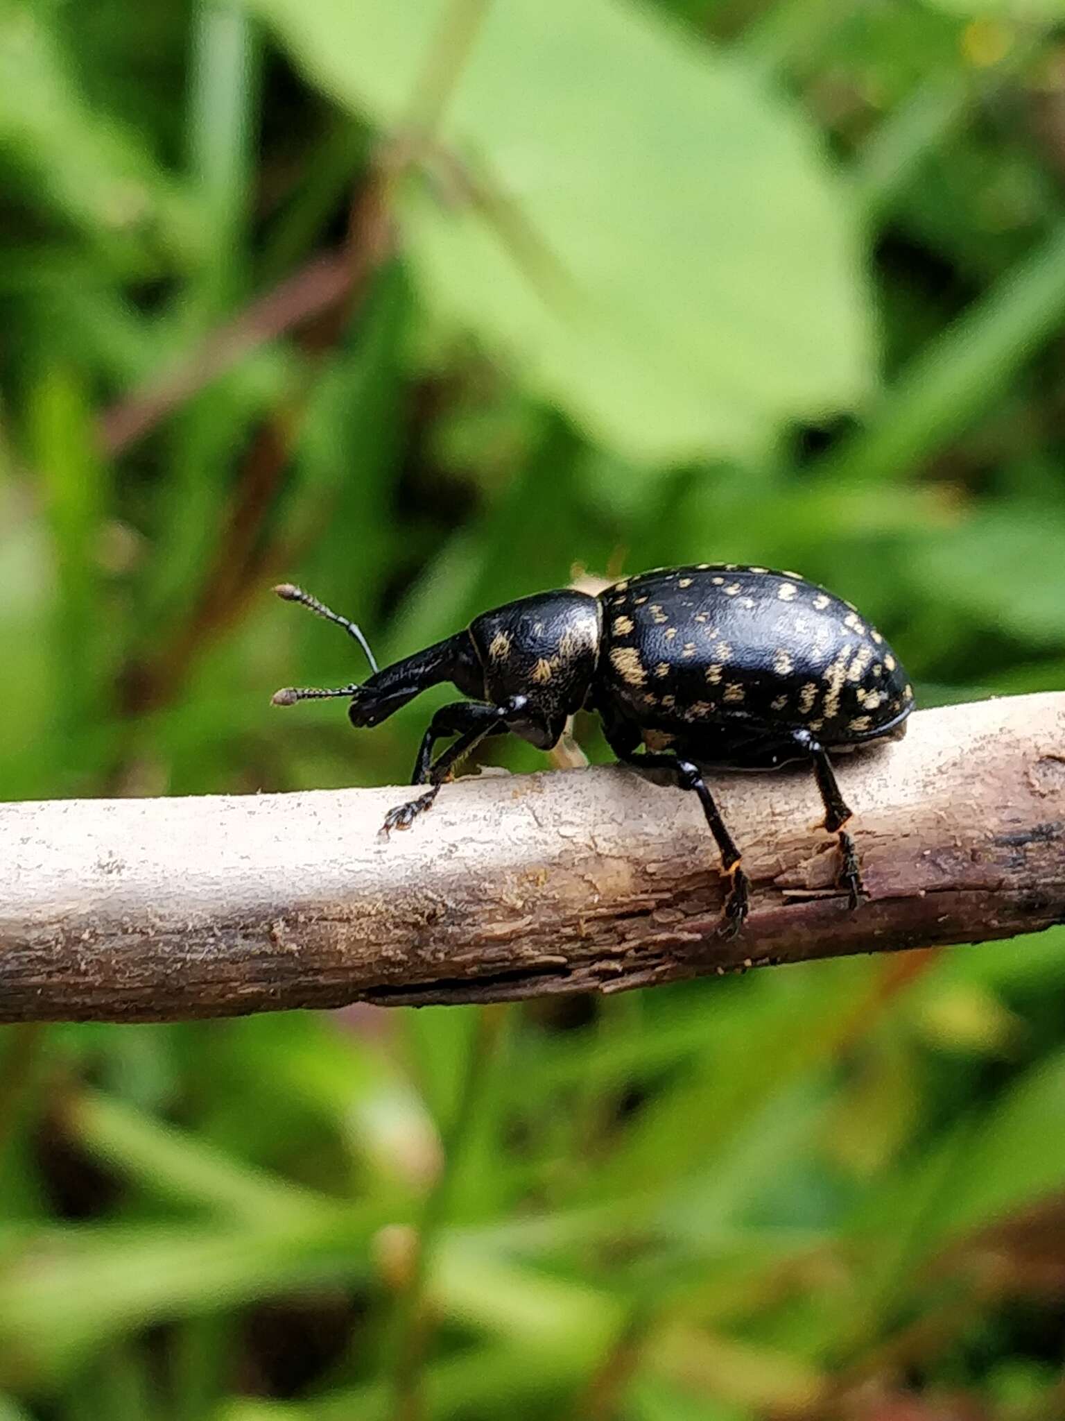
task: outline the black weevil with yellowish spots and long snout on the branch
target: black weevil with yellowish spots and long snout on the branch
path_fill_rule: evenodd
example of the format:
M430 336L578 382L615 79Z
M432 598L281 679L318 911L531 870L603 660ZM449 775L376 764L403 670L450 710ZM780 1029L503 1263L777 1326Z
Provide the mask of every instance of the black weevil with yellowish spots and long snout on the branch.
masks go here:
M740 853L700 764L768 770L807 760L838 836L839 882L856 908L863 892L851 810L828 752L905 733L913 691L883 637L851 603L795 573L733 563L657 568L598 597L540 593L476 617L466 631L383 671L362 632L298 587L275 591L344 627L373 674L361 685L278 691L275 705L349 696L354 726L379 725L426 686L453 682L469 701L433 716L413 783L429 789L399 804L383 830L408 828L429 809L452 769L479 740L513 730L550 750L575 710L595 710L626 764L669 770L694 790L731 885L723 929L747 917ZM454 736L433 759L439 739ZM638 747L643 750L638 753Z

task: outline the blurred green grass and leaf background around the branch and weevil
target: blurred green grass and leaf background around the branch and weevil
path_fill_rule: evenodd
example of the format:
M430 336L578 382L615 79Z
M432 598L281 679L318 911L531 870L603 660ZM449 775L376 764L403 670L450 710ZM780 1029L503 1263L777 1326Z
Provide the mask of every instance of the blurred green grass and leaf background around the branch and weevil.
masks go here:
M7 799L403 780L278 578L383 661L750 560L1065 684L1058 0L9 0L0 315ZM1059 929L7 1027L0 1418L1065 1417L1064 1009Z

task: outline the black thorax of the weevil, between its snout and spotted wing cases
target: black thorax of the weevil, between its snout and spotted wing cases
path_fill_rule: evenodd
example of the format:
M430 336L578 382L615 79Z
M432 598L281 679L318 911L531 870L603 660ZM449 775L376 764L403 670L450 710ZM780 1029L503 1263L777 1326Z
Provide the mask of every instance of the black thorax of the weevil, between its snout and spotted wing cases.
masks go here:
M496 705L524 698L521 718L508 725L538 749L558 740L567 716L588 696L599 658L599 618L594 597L564 590L523 597L470 624L484 698Z

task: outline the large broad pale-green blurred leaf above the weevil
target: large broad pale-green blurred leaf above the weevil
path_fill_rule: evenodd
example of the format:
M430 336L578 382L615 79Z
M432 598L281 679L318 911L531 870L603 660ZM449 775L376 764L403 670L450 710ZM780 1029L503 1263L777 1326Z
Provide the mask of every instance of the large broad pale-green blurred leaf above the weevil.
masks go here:
M341 104L402 128L439 0L254 0ZM435 314L629 458L747 452L853 404L848 198L738 65L621 0L493 6L398 210Z

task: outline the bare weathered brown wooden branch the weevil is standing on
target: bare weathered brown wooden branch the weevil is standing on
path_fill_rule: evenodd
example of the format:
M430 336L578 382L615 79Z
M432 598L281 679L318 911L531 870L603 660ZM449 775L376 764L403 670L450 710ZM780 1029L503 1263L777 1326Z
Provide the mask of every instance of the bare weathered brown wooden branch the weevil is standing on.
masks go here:
M836 763L856 912L809 773L713 776L754 881L731 941L694 796L622 767L469 777L390 841L409 790L0 806L0 1020L618 990L1065 921L1065 693Z

